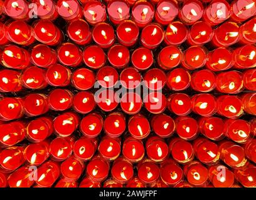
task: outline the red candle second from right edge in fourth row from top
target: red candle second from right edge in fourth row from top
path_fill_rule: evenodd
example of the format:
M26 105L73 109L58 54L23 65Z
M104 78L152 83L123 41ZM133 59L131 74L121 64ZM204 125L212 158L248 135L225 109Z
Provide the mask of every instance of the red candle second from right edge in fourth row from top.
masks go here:
M239 71L228 71L216 76L216 89L220 93L237 94L243 90L243 74Z

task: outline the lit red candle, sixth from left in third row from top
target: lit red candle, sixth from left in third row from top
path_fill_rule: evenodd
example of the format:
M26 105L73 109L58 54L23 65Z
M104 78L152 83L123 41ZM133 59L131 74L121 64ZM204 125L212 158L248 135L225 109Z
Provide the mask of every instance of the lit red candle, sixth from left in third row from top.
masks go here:
M146 70L154 63L152 51L145 47L139 47L132 53L132 65L138 70Z

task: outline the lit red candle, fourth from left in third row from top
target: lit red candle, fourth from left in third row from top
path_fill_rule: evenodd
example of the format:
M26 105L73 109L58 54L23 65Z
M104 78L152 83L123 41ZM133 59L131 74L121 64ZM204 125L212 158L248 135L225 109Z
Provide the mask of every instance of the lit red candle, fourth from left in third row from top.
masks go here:
M98 69L105 65L107 56L101 47L97 45L87 46L83 50L83 63L92 69Z

